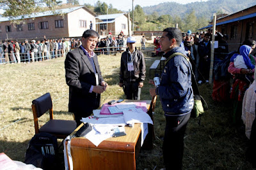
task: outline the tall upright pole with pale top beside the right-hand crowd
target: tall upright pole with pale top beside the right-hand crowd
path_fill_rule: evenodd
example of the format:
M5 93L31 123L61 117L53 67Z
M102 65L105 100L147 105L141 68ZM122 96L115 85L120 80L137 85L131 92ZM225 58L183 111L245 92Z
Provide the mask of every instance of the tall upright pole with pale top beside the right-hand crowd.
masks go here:
M210 73L209 73L209 83L212 83L212 70L213 70L213 62L214 62L215 30L216 30L216 13L213 14L213 23L212 23L212 45L211 45L211 64L210 64Z

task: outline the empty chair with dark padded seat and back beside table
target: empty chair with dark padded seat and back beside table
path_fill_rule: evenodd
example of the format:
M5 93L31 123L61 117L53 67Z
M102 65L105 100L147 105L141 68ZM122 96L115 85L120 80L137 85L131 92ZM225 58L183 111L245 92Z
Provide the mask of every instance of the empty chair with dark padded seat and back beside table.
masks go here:
M42 127L38 127L38 118L49 110L50 120ZM39 132L47 132L60 139L65 139L76 129L76 121L74 120L56 120L53 119L52 99L49 93L32 101L32 111L34 115L35 134Z

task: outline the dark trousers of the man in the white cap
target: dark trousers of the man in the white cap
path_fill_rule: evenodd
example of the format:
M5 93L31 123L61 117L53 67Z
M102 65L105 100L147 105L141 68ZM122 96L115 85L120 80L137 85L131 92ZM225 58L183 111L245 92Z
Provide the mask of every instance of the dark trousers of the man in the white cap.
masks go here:
M140 100L141 88L139 88L139 83L137 81L125 81L124 94L126 99Z

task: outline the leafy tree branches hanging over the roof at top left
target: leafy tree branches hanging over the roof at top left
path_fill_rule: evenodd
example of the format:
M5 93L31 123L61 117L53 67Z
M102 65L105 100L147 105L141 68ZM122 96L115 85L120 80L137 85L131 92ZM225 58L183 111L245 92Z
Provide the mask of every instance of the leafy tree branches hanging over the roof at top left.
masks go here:
M33 13L49 11L55 15L60 14L57 10L61 1L58 0L0 0L1 9L4 10L2 17L8 17L13 23L22 21L25 17L31 17Z

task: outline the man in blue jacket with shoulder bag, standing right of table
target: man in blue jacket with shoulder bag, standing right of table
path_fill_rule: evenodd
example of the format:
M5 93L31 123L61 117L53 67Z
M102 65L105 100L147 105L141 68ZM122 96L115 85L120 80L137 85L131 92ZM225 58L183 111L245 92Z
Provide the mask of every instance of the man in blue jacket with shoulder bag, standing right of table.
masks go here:
M166 169L182 169L184 134L193 108L191 64L186 52L180 47L182 33L179 29L164 29L160 38L161 50L165 52L166 64L160 85L150 89L150 95L159 95L166 117L163 141L163 157ZM182 53L172 57L173 53Z

